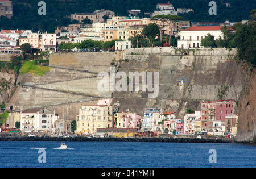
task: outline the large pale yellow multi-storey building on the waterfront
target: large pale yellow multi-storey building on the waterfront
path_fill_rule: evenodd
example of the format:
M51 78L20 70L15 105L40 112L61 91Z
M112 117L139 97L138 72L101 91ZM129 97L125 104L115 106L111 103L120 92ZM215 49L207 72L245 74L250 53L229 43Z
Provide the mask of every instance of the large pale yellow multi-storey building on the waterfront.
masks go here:
M76 116L77 131L96 132L97 128L113 127L113 107L110 105L85 105Z

